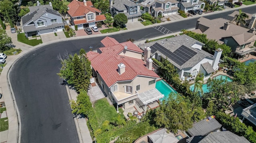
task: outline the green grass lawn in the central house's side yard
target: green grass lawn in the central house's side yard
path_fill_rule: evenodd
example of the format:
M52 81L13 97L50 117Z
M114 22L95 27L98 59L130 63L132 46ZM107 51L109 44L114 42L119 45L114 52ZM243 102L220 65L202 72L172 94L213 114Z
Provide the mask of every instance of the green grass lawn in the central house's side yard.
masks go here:
M110 105L106 98L97 100L94 103L94 111L100 126L105 120L114 122L114 118L117 118L118 114L125 119L123 110L119 108L118 109L119 113L117 113L116 108L113 105Z

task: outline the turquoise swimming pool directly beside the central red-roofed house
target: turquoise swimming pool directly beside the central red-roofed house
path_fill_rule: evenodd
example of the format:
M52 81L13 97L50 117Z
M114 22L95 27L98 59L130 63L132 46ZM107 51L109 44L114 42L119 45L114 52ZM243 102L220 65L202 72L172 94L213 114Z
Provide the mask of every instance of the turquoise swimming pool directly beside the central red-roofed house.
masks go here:
M171 92L178 93L174 90L169 84L167 84L164 80L159 80L156 82L156 89L164 94L164 99L168 99L169 94Z

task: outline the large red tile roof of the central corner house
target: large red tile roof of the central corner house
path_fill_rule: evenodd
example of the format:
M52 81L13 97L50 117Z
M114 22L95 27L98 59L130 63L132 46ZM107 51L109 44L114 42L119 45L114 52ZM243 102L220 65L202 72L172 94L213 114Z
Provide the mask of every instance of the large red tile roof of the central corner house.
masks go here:
M106 37L106 39L111 39ZM103 39L104 41L104 39ZM136 76L150 76L158 78L159 76L152 70L146 68L146 63L141 59L127 57L124 55L117 55L124 50L124 45L128 46L128 50L141 52L142 50L134 45L131 41L118 43L109 47L102 47L99 50L102 53L88 52L87 57L91 61L91 65L95 71L98 71L107 86L110 87L117 81L133 80ZM125 72L119 74L118 64L124 63Z

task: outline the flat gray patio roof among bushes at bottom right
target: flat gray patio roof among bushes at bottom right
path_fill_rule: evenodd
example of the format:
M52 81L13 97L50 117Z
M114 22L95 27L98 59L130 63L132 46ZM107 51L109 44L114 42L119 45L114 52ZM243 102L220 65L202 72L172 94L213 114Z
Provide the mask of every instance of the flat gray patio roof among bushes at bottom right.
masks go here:
M222 125L215 119L212 118L209 121L203 119L202 121L198 121L197 123L193 124L193 127L188 129L188 133L191 136L198 136L198 135L208 135L212 131L216 131L220 129Z

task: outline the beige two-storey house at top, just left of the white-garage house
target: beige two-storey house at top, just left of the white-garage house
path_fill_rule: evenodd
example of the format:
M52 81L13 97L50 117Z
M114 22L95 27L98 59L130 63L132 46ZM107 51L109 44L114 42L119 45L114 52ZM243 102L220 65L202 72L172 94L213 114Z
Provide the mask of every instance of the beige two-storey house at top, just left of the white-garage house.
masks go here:
M140 3L143 7L142 10L148 12L154 17L159 15L168 16L176 14L178 12L178 1L177 0L145 0Z

